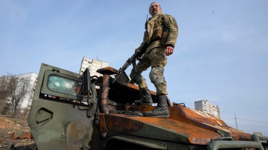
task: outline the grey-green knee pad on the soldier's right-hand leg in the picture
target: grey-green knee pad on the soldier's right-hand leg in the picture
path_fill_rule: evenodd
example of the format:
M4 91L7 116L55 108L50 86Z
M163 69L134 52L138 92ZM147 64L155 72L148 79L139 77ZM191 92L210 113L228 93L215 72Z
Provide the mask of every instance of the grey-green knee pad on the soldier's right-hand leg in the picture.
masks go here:
M159 76L161 74L162 76ZM155 85L155 87L163 82L166 82L164 74L164 68L155 67L151 69L151 72L149 73L149 78L151 82Z

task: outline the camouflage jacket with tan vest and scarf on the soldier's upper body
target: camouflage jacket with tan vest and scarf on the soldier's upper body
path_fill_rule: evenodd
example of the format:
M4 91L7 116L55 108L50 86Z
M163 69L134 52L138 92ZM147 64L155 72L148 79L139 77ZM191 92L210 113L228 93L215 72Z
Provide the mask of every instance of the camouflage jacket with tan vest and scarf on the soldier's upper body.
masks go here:
M162 12L157 12L149 18L147 31L144 33L143 42L136 50L141 50L145 45L147 54L155 47L166 49L167 45L171 44L175 47L178 36L178 25L174 17L171 15L163 15Z

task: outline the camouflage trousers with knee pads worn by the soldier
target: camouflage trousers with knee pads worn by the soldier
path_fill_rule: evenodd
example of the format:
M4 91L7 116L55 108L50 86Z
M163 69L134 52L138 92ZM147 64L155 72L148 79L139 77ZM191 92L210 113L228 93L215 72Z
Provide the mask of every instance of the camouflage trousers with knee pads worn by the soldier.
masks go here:
M143 78L141 73L151 66L149 77L156 87L156 95L167 95L166 80L163 76L164 66L166 66L166 63L167 58L165 50L160 47L153 48L149 53L145 54L141 58L140 62L138 62L137 72L134 72L132 69L130 78L138 84L140 90L149 89L146 84L146 80Z

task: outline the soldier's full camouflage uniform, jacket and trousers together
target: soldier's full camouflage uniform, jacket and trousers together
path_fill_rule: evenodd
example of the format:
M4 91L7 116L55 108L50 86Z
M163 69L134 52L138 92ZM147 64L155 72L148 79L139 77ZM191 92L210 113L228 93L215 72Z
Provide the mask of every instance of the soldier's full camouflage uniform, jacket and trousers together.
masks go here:
M166 80L163 76L164 66L167 63L165 50L168 45L175 47L177 35L177 22L171 15L163 15L162 12L157 12L149 18L143 42L136 50L140 51L144 45L147 45L148 48L137 64L138 71L134 72L132 70L130 73L130 78L138 84L140 90L148 89L141 73L151 66L149 77L156 87L156 94L167 95Z

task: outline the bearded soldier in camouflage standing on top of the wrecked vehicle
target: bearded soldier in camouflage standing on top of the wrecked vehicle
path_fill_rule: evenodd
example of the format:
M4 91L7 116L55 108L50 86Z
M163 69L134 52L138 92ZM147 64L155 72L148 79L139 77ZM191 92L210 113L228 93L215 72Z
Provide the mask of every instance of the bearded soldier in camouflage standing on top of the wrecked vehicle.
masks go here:
M152 17L148 20L143 42L136 51L140 51L145 45L148 48L142 58L137 58L140 60L137 64L137 72L132 69L130 73L131 80L138 84L143 93L143 98L135 100L134 103L136 105L152 105L149 88L141 75L151 66L149 78L156 87L157 106L152 111L143 112L143 114L145 117L167 118L170 115L167 108L166 80L163 73L167 63L166 56L173 54L177 42L178 26L174 17L163 15L161 6L156 2L150 4L149 13Z

